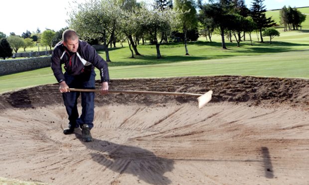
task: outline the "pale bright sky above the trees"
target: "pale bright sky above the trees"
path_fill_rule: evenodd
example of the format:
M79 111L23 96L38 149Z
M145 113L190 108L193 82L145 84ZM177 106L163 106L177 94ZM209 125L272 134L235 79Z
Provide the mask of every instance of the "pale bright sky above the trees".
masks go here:
M58 31L68 26L67 12L70 10L70 4L76 5L73 1L83 2L84 0L1 0L0 32L9 36L10 32L21 35L27 30L31 33L35 32L37 28L41 32L46 28ZM245 1L250 8L252 0ZM268 10L280 9L284 5L303 7L309 6L309 0L265 0L264 5Z

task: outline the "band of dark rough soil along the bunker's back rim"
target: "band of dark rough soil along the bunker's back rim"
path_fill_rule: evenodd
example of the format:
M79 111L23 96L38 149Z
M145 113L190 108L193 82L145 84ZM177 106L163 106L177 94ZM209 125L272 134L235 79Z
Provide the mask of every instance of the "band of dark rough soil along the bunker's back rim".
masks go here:
M99 88L97 83L97 88ZM248 105L288 104L307 107L309 105L309 80L279 79L240 76L184 77L160 79L112 80L111 90L195 92L213 91L212 102L247 102ZM194 97L161 96L141 94L97 95L99 104L159 104L195 101ZM38 86L0 96L0 109L9 107L41 107L62 103L58 84Z

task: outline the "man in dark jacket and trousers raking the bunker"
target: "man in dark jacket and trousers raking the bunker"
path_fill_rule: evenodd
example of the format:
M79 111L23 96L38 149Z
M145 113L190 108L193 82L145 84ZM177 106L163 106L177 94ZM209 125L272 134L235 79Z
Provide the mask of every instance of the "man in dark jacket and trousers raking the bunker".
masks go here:
M82 129L83 141L92 141L90 133L94 119L94 92L70 92L68 88L95 89L94 67L100 70L101 93L108 93L109 72L107 62L104 61L87 42L79 40L77 33L67 29L62 35L52 53L51 69L62 92L64 105L68 113L69 126L63 130L64 134L72 134L75 127ZM64 64L65 73L61 65ZM79 117L77 99L81 94L82 114Z

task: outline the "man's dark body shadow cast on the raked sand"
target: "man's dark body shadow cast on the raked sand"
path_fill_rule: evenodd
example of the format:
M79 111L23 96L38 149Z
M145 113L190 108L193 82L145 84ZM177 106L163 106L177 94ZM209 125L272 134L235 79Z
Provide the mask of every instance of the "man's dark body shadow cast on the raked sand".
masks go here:
M75 135L88 149L98 151L90 155L95 162L106 168L119 174L132 174L148 184L171 184L163 174L173 170L173 160L157 157L153 152L136 146L99 139L86 143L82 141L80 132L75 131Z

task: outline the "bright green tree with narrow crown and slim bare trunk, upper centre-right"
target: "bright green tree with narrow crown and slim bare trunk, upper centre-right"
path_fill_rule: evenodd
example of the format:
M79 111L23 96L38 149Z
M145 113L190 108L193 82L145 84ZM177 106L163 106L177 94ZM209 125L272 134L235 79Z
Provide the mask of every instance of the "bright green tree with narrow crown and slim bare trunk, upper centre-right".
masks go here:
M174 10L177 12L178 27L184 34L185 55L189 55L187 48L187 31L197 26L196 9L193 0L174 0Z

